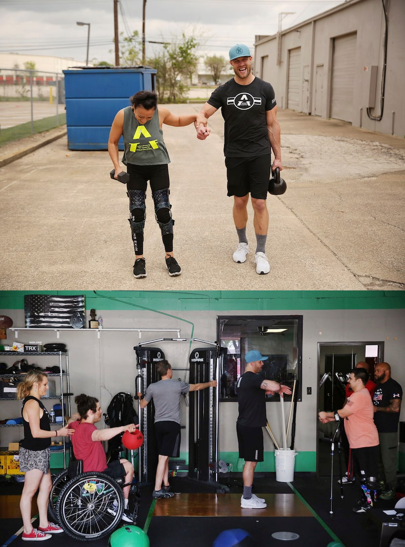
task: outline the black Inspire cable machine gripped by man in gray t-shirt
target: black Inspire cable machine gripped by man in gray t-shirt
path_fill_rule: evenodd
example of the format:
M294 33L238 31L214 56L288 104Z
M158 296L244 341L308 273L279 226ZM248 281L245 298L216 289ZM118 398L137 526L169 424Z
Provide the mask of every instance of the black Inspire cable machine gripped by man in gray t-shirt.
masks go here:
M198 348L190 353L189 383L217 381L217 388L208 388L189 393L189 477L205 481L210 486L216 486L218 481L219 459L219 386L225 348L217 342L199 340L197 338L160 338L141 342L134 347L137 358L136 392L145 393L149 383L159 380L156 368L153 366L159 360L165 359L164 352L158 347L143 347L161 341L170 342L200 342L211 348ZM187 395L184 395L187 404ZM140 483L154 481L158 453L153 434L154 407L153 401L140 410L140 427L144 436L143 445L139 449L139 481ZM223 488L223 485L218 485Z

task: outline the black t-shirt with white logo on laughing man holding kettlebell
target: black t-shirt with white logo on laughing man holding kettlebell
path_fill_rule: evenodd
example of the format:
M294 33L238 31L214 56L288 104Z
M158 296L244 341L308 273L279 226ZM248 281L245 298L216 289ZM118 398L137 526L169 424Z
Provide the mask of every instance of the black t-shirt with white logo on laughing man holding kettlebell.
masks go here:
M229 158L254 158L270 154L266 112L276 106L273 87L255 77L248 85L228 80L207 101L221 108L225 120L224 154Z

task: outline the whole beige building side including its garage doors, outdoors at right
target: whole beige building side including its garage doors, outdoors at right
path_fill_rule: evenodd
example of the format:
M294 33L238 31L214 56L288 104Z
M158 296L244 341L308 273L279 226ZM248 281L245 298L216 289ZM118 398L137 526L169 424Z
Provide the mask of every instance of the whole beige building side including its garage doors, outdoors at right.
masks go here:
M288 107L295 77L294 109L299 112L345 119L358 127L403 137L405 3L384 0L384 5L387 25L381 0L349 0L280 36L257 36L255 71L273 85L279 107ZM292 59L299 60L298 68L290 67ZM350 115L339 117L335 105L342 96Z

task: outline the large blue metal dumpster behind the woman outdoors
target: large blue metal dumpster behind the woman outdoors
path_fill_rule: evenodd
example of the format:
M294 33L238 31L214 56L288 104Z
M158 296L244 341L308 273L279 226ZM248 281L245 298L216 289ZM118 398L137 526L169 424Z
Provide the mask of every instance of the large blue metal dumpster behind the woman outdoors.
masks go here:
M138 91L155 90L156 72L143 66L64 70L68 149L107 150L115 114ZM124 150L122 137L118 147Z

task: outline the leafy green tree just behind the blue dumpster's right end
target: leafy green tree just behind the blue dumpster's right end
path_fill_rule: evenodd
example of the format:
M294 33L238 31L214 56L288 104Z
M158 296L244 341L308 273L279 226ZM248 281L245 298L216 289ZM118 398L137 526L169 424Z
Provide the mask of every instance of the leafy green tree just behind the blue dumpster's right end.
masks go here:
M198 56L194 50L198 42L193 36L174 37L170 44L164 44L162 53L148 59L148 65L157 69L157 92L160 102L175 103L186 100L187 80L195 72ZM184 83L186 80L186 83Z

